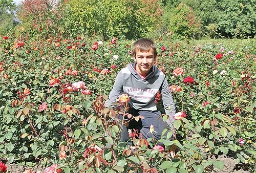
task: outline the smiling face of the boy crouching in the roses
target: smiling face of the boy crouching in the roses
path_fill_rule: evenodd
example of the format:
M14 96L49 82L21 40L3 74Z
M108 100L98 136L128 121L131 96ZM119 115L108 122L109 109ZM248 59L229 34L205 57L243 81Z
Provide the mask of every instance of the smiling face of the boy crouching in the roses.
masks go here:
M153 49L148 52L137 50L134 60L136 61L136 71L145 77L150 72L156 58L154 57Z

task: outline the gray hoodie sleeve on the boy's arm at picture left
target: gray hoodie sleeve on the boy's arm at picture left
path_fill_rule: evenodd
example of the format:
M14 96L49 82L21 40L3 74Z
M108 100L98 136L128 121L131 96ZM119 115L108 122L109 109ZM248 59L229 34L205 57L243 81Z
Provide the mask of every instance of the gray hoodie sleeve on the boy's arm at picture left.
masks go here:
M122 82L122 72L117 74L116 81L114 83L113 89L110 92L109 99L106 101L106 107L109 107L111 103L116 101L116 98L120 93L123 92L123 82Z

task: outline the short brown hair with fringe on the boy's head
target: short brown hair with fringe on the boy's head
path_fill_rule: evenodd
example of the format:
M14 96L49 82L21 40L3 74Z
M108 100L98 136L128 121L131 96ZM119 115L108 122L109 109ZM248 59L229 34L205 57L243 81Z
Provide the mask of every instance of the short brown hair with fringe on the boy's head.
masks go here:
M142 52L147 52L151 49L153 49L154 51L154 58L157 58L157 49L155 42L149 38L140 38L133 44L133 56L136 57L136 53L138 50Z

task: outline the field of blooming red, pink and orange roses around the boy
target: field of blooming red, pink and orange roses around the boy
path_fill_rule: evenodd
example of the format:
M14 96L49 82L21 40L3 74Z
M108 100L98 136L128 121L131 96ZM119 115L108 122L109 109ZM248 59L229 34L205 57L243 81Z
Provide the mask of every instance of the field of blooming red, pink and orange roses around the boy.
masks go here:
M0 172L255 172L255 39L155 41L178 113L162 146L120 142L125 104L104 108L134 41L0 38Z

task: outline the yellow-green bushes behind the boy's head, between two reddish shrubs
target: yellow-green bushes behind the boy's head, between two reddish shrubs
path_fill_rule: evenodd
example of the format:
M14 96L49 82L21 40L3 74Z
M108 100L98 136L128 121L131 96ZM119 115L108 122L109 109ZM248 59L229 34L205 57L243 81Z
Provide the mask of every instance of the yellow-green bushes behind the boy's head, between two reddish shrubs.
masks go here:
M161 9L157 1L72 0L71 21L75 30L97 33L104 40L114 36L139 38L155 31ZM147 16L147 17L145 17Z

